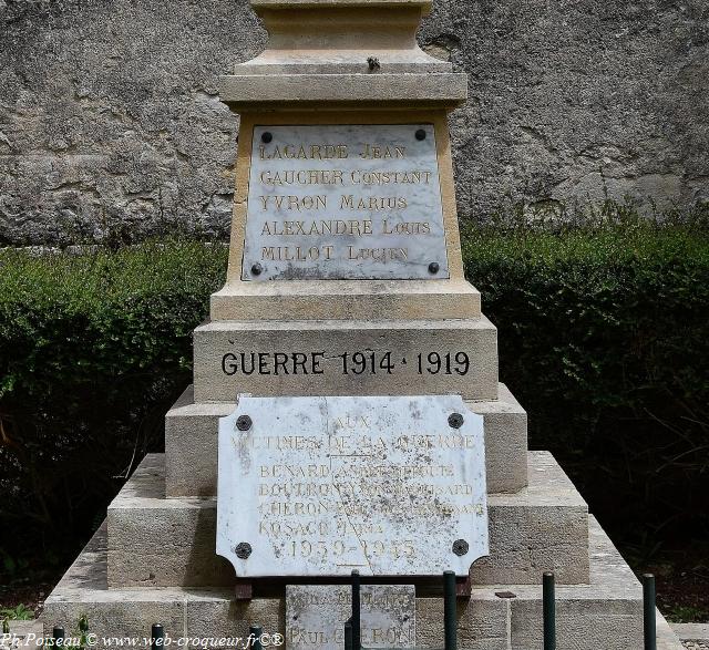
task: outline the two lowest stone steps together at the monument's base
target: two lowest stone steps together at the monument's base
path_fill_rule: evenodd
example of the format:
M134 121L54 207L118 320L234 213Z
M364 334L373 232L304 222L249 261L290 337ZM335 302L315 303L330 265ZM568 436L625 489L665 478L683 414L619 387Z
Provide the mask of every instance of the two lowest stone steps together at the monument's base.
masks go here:
M543 548L554 549L557 564L558 649L641 648L638 580L596 519L584 516L580 495L552 456L532 452L528 458L528 487L490 495L491 557L472 571L475 581L493 582L496 575L511 580L476 585L470 599L459 600L459 648L542 647L541 577L551 561L551 556L538 555ZM215 499L166 498L164 476L163 455L147 456L47 599L41 617L45 630L63 626L70 633L86 616L99 638L143 637L155 622L173 639L247 637L254 623L285 634L285 585L271 582L260 590L264 595L257 588L250 601L236 601L229 587L233 569L214 554ZM583 540L575 538L578 534ZM526 557L505 556L505 539L513 540L511 551L522 545ZM443 600L418 596L417 647L442 644ZM659 612L658 648L681 650Z

